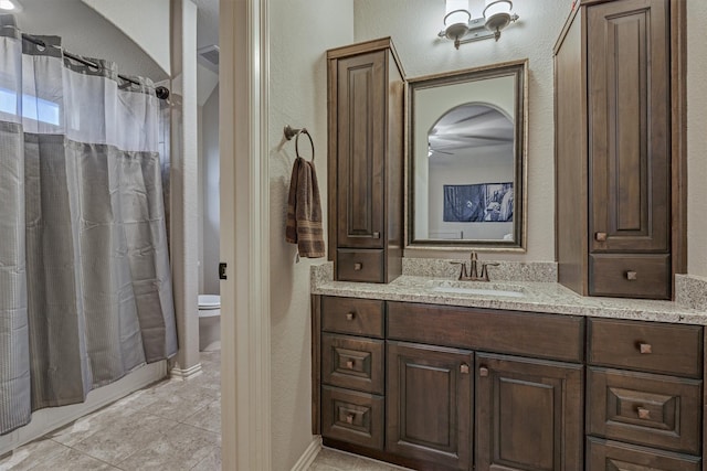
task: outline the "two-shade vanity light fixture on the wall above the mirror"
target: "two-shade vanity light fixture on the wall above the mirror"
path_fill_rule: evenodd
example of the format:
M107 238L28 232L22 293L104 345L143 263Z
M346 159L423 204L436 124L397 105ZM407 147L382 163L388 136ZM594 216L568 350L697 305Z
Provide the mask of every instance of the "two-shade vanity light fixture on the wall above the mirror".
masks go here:
M469 0L446 0L444 30L440 38L454 41L454 47L473 41L500 38L500 31L520 17L513 13L510 0L486 0L483 15L472 18Z

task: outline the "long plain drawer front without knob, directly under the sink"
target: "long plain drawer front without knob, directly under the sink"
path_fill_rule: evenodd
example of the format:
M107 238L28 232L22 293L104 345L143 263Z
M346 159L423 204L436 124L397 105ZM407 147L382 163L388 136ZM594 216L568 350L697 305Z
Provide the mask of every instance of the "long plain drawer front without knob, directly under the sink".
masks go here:
M584 319L572 315L389 302L388 338L574 363L584 358Z

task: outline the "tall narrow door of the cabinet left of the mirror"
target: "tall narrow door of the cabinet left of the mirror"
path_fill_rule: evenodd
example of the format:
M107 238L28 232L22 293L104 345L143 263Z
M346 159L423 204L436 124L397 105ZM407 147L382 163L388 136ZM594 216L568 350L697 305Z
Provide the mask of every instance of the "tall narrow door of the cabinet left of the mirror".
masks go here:
M383 248L386 54L338 61L339 247Z

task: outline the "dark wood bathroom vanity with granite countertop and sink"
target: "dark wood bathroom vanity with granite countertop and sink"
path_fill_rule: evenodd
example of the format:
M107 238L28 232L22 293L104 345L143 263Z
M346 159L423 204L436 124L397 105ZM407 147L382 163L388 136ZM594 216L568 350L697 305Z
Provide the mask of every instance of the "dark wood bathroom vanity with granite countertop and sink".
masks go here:
M313 279L325 446L425 470L703 470L704 312L553 282Z

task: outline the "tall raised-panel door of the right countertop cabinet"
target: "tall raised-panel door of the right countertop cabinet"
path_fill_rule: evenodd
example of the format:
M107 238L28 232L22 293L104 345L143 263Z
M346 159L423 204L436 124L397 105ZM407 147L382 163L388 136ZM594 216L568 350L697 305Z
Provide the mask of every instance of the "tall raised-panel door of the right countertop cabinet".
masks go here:
M590 251L666 253L668 0L620 0L587 12Z

